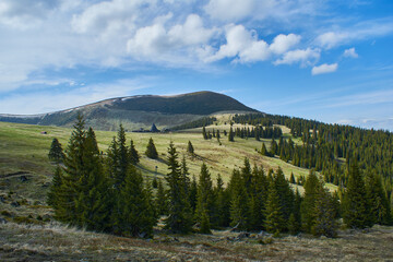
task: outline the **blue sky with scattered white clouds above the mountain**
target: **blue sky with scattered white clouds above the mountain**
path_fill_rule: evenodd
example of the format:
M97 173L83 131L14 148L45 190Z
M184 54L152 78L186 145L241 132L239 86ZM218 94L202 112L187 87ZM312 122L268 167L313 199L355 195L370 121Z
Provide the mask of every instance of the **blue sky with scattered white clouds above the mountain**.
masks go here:
M198 91L393 131L393 1L0 0L0 114Z

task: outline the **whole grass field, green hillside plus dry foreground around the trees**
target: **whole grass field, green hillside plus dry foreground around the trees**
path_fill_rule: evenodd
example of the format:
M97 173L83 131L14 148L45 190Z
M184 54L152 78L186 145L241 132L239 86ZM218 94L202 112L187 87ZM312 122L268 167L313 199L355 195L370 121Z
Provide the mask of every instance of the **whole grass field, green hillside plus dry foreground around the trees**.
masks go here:
M229 124L218 122L207 130L213 128L224 130ZM41 134L44 131L47 134ZM307 235L272 238L258 234L240 238L238 233L228 230L174 236L157 226L151 240L68 228L52 221L51 209L46 205L55 169L47 154L53 138L66 147L71 132L66 128L0 122L0 219L8 222L0 221L0 261L383 261L393 258L392 227L345 230L336 239L315 239ZM287 135L289 131L285 132ZM106 152L116 132L97 131L96 135L99 148ZM157 160L143 154L151 136L159 154ZM165 159L170 141L179 156L187 158L191 176L198 177L204 162L214 178L221 174L228 181L245 157L251 165L263 165L265 169L279 166L286 176L309 172L278 158L261 156L255 148L261 148L267 140L228 142L223 135L219 145L216 139L203 140L200 129L165 134L127 133L127 139L128 143L134 141L142 156L139 168L150 179L163 178L167 172ZM195 156L187 153L188 141L192 142Z

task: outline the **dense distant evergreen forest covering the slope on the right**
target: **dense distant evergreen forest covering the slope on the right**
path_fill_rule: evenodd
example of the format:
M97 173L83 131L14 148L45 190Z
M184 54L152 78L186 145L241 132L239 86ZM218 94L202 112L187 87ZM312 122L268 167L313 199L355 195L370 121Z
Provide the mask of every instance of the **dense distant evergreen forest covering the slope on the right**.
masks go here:
M381 176L388 196L393 184L393 135L384 130L366 130L349 126L327 124L314 120L263 114L235 116L237 123L261 124L270 121L290 129L301 145L281 139L277 146L272 141L267 155L278 155L295 166L314 168L326 182L346 186L350 160L361 170Z

